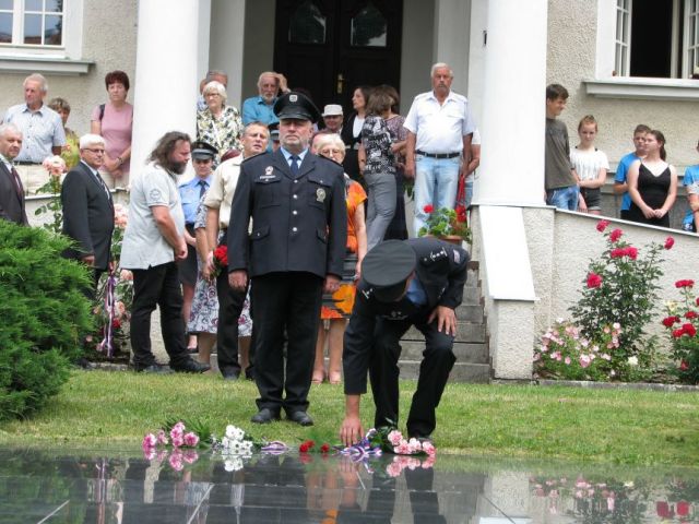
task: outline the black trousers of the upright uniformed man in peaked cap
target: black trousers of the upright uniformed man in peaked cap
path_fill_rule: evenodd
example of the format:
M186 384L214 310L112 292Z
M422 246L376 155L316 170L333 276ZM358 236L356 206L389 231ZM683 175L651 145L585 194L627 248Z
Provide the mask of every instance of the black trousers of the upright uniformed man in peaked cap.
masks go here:
M304 272L252 278L252 344L259 409L266 407L279 413L283 407L287 414L308 409L322 285L321 277Z

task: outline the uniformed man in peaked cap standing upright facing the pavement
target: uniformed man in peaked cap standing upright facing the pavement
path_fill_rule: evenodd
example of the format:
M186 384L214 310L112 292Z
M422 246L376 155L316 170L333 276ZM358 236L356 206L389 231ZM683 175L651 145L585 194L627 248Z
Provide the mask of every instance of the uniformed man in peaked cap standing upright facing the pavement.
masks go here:
M244 162L228 223L228 278L252 279L257 424L308 415L323 290L337 289L347 231L342 167L308 151L320 111L300 93L274 104L281 148ZM248 224L252 218L252 231ZM288 337L284 367L284 331ZM285 396L283 394L285 393Z

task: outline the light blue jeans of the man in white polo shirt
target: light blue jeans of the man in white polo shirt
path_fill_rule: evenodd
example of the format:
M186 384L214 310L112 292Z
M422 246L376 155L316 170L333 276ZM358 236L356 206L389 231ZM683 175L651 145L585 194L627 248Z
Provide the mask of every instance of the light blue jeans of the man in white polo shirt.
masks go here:
M461 158L429 158L415 155L415 236L427 221L426 205L453 209L459 188Z

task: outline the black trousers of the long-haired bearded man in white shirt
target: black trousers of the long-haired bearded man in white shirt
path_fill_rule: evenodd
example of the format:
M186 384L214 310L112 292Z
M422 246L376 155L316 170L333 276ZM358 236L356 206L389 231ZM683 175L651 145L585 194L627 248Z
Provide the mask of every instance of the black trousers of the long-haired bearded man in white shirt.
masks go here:
M133 310L131 347L133 365L145 368L155 364L151 350L151 314L161 308L161 330L170 366L189 360L182 320L182 290L175 262L133 270Z

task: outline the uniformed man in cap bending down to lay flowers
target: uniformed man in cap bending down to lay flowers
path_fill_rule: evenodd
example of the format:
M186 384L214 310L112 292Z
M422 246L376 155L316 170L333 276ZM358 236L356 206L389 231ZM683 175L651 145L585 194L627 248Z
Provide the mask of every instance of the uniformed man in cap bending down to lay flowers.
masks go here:
M376 405L375 427L399 420L400 340L414 325L425 335L417 390L407 416L411 438L430 439L435 409L454 365L454 310L466 282L469 253L435 238L387 240L362 263L362 281L345 331L343 368L345 445L363 437L359 398L367 391L367 369Z

